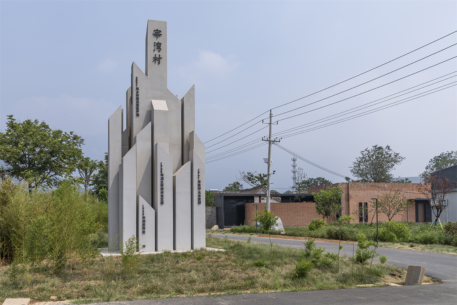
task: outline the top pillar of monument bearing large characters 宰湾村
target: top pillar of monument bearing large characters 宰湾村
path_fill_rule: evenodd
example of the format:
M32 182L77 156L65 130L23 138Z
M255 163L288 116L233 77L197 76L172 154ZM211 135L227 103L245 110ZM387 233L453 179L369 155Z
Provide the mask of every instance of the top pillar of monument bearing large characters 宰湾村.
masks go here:
M165 99L167 88L167 22L148 20L146 30L146 65L144 72L148 76L148 96Z

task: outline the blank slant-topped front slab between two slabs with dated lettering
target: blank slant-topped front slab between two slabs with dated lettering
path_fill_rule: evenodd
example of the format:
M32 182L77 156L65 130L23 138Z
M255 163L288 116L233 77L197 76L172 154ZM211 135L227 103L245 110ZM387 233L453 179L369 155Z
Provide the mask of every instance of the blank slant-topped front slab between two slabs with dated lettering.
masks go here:
M191 163L173 174L173 240L175 250L191 249Z

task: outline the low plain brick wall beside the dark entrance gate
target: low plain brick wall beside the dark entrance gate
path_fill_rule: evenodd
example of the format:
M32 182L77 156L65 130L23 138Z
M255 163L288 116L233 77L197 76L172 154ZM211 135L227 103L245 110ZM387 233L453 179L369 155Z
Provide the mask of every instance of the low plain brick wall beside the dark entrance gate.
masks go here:
M265 209L264 203L259 203L258 210ZM274 216L279 216L284 227L305 226L313 218L322 218L316 213L316 204L314 202L271 202L271 212ZM252 218L255 218L255 206L246 203L244 206L244 215L246 224L253 225Z

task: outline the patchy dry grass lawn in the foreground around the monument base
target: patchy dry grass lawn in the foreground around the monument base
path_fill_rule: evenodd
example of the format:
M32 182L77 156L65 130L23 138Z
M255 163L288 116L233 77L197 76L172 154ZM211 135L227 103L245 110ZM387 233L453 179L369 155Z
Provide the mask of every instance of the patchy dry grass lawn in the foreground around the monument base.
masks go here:
M361 264L340 256L330 266L316 267L306 277L295 274L302 249L270 246L207 237L207 246L225 252L199 250L140 256L138 272L124 273L120 257L97 257L90 267L90 278L79 262L69 272L49 274L38 269L8 279L8 267L0 267L0 301L28 297L34 302L48 301L51 295L72 303L161 299L191 295L245 294L278 291L354 288L359 284L385 286L402 283L406 271L394 266ZM177 260L181 263L177 264ZM353 269L352 269L353 268ZM353 270L353 271L352 271ZM396 273L402 278L390 277Z

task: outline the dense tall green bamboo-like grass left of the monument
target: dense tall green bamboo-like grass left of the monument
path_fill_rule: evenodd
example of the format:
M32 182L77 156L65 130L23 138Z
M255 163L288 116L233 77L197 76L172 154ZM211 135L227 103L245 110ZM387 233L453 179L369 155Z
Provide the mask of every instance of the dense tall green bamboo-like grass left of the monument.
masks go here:
M69 181L53 191L29 194L5 179L0 183L0 202L4 264L38 266L52 273L68 267L71 272L75 262L87 260L105 237L106 224L97 220L107 218L106 204L80 193Z

